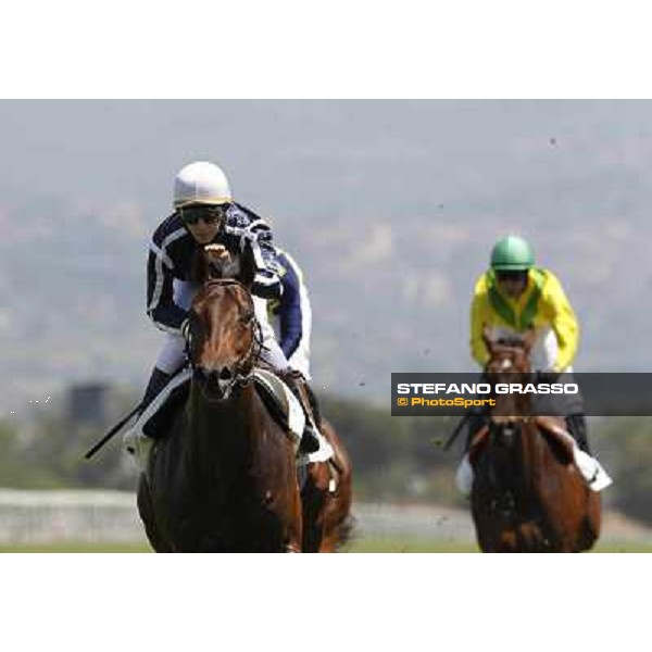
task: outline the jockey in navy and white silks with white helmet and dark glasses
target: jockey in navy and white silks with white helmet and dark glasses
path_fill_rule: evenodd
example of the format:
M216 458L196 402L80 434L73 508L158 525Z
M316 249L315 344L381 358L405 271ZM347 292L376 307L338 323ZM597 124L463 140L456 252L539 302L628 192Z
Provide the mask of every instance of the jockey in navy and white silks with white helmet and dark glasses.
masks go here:
M299 399L306 417L310 406L298 390L297 374L276 341L267 316L267 301L280 300L283 285L272 229L249 208L234 201L224 172L213 163L186 165L175 177L174 212L155 229L147 263L147 314L165 333L148 383L140 413L166 387L170 378L186 364L188 310L199 287L190 278L190 267L199 248L222 244L229 253L250 248L256 265L252 298L261 327L261 358L274 368ZM300 452L319 446L312 419L305 419ZM154 437L148 431L143 436Z

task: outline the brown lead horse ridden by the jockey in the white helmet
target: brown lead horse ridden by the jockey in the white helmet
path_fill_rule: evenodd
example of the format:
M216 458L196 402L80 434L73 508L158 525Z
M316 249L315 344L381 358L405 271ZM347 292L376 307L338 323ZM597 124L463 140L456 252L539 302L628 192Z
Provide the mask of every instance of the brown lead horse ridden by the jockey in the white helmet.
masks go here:
M190 396L156 441L138 507L158 552L300 552L292 442L253 386L249 287L208 280L189 313Z

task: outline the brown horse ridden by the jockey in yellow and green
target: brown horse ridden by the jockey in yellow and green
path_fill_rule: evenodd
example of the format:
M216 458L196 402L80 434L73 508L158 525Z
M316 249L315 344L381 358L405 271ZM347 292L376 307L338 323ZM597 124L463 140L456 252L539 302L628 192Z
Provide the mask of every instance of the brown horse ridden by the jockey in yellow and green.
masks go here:
M485 338L487 372L498 383L529 374L534 331L523 342ZM523 376L521 376L523 378ZM531 416L528 394L496 394L489 423L474 438L472 514L484 552L580 552L600 534L601 499L560 437L563 419Z

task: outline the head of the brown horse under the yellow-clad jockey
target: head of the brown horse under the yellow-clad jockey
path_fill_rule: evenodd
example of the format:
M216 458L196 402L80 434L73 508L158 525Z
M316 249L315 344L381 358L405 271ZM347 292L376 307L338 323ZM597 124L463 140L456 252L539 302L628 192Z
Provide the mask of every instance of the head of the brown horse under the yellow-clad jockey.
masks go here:
M493 339L485 329L482 338L489 352L485 374L492 385L523 384L531 373L530 351L537 334L529 328L522 338ZM519 393L496 393L497 401L491 410L496 424L513 424L518 417L529 415L529 397Z

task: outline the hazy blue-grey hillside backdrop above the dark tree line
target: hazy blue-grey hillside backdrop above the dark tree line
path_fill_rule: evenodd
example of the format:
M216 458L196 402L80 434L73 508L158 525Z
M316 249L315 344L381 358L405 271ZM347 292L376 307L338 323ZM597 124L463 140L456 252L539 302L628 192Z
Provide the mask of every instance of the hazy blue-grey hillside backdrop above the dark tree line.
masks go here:
M151 231L208 159L308 277L315 384L471 371L475 277L530 238L579 314L581 371L649 371L647 101L2 101L0 414L70 383L140 389Z

